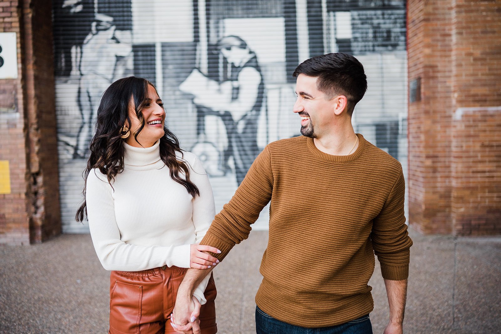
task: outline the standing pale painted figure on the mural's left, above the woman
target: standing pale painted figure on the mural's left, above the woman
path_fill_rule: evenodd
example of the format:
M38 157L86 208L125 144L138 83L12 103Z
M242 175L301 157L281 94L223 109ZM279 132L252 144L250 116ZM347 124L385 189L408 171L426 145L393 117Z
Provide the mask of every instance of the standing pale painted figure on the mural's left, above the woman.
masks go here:
M120 67L127 67L127 62L119 57L128 57L131 54L131 31L116 30L112 17L96 14L91 32L82 45L78 92L82 125L78 132L74 157L86 155L92 138L92 120L96 117L101 94L125 72Z

